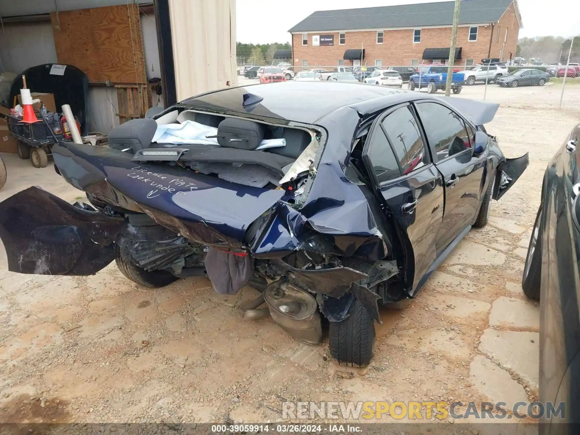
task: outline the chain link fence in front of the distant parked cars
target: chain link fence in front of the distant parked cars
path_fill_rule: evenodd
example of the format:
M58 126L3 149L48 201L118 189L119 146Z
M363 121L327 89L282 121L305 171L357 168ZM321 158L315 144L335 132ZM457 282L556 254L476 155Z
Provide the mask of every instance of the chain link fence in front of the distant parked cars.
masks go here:
M244 69L245 68L245 69ZM260 69L261 68L261 69ZM265 69L264 69L265 68ZM414 92L444 95L448 67L444 64L345 66L289 63L266 67L240 67L240 84L245 79L274 76L274 81L362 82ZM580 65L506 64L456 65L451 95L506 104L527 104L531 108L574 110L580 114ZM245 76L245 77L244 77ZM264 81L264 80L262 80ZM265 80L270 82L270 80Z

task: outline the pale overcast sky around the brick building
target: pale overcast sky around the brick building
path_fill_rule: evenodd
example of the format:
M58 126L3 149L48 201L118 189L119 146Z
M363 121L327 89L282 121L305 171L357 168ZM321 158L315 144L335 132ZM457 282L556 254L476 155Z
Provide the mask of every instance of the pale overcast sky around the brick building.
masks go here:
M430 0L236 0L238 42L290 42L289 28L316 10L425 3ZM466 0L472 1L472 0ZM578 0L518 0L524 28L520 37L580 34Z

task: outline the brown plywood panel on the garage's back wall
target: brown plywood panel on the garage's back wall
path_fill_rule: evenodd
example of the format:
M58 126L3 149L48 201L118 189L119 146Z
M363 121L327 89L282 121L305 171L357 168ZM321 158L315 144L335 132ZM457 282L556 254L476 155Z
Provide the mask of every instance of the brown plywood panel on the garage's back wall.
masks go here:
M139 9L135 4L50 13L59 63L89 81L145 83Z

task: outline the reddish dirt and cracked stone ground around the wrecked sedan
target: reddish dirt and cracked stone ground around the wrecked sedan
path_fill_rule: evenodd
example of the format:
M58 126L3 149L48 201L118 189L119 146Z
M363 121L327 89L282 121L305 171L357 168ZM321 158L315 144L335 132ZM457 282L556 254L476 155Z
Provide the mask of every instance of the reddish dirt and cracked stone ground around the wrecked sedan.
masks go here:
M580 86L557 110L559 86L488 89L501 103L488 132L530 166L411 305L381 311L364 369L333 362L327 339L309 346L271 320L241 320L250 288L224 297L188 278L151 291L114 263L90 277L19 275L0 249L0 422L276 422L284 400L532 400L538 307L521 273L543 171L580 115ZM82 197L52 163L2 157L0 199L32 185Z

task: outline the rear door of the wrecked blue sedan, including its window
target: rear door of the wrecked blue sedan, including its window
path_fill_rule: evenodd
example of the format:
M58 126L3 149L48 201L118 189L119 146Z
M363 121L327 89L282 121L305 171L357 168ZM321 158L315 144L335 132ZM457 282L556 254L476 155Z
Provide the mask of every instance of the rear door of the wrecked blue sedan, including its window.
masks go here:
M363 160L387 217L406 240L407 284L414 292L436 258L444 191L411 104L390 108L375 120Z

